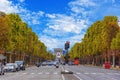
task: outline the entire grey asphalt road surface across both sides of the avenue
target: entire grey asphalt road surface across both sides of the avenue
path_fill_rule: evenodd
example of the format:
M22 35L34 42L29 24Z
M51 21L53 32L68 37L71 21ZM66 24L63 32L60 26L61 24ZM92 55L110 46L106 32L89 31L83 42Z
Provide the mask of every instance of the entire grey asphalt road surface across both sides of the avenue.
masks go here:
M74 74L61 74L63 70ZM29 67L25 71L8 72L0 80L120 80L120 71L90 66Z

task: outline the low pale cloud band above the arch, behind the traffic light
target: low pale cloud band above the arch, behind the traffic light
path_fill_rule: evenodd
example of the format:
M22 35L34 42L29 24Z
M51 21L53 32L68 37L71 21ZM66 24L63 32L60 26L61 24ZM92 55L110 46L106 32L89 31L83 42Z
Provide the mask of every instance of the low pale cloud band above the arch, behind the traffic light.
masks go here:
M48 50L53 50L54 48L63 48L66 41L70 41L70 47L76 42L81 42L81 39L84 37L84 34L75 35L72 37L66 38L52 38L51 36L42 35L40 36L40 40L45 43Z

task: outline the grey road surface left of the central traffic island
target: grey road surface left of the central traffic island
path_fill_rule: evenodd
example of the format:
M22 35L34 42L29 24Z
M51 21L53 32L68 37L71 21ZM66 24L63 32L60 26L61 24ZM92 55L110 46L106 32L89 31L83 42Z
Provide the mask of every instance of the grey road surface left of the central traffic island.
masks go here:
M9 72L0 76L0 80L63 80L62 68L55 66L30 67L25 71Z

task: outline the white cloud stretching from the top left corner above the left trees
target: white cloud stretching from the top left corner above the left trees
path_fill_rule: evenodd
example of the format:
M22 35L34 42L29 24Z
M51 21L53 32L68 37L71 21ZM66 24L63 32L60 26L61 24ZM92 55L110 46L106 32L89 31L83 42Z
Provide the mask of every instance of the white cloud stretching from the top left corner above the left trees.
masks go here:
M19 2L24 2L25 0L18 0ZM9 0L0 1L0 11L5 13L18 13L22 17L22 20L27 22L29 25L40 24L41 17L44 15L43 11L30 11L24 7L22 3L13 4Z

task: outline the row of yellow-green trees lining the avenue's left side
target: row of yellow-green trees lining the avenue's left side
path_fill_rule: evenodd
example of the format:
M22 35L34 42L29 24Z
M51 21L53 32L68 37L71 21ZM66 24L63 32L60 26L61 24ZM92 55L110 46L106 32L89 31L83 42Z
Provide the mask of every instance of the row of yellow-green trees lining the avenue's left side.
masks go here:
M26 56L53 58L44 43L18 14L3 12L0 12L0 53L11 56L15 54L22 60L25 60Z

